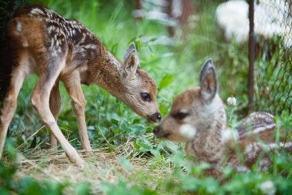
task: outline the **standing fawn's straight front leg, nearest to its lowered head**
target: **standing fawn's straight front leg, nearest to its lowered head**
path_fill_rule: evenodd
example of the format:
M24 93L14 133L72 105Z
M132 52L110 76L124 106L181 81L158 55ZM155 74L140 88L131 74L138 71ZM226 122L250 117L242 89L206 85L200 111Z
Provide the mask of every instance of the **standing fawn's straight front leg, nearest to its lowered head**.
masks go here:
M77 118L82 150L91 151L85 122L85 96L82 92L79 72L75 71L66 75L63 82L70 96L72 107Z

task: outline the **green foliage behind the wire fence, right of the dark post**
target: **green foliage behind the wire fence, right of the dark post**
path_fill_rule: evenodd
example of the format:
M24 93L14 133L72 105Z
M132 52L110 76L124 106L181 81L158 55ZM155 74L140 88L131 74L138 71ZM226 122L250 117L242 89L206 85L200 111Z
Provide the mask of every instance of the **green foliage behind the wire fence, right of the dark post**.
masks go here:
M283 40L274 36L261 41L258 50L254 64L256 108L292 114L291 48L286 48Z

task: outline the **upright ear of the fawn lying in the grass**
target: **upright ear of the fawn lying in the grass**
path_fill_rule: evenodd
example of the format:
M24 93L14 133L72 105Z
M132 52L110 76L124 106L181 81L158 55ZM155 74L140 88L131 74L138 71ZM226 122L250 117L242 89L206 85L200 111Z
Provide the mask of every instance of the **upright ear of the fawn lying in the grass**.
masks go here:
M205 101L214 98L217 92L216 72L212 59L207 60L200 74L201 96Z

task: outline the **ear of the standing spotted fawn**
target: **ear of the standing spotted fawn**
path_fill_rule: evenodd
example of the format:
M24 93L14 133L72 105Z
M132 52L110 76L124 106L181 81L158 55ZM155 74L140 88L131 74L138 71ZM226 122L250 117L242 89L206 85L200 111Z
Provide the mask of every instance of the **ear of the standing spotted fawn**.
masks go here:
M139 68L139 57L134 43L128 46L124 54L124 73L125 76L133 76Z

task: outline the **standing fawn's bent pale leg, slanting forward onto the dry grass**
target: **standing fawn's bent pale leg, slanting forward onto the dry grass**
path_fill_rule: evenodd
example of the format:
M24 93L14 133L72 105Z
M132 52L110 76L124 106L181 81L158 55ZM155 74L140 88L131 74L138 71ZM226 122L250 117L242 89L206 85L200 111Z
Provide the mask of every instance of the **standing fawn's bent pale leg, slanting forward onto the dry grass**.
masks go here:
M84 161L62 134L51 110L49 110L49 94L54 86L54 83L56 82L56 79L58 78L58 75L60 74L60 70L62 70L64 66L65 60L63 59L63 61L61 61L58 65L57 63L53 63L51 67L47 68L47 70L40 75L38 82L34 87L34 91L32 92L31 100L32 105L36 108L38 114L41 116L41 119L43 119L43 122L49 127L60 145L63 147L63 150L70 161L72 163L76 163L77 165L83 165Z

